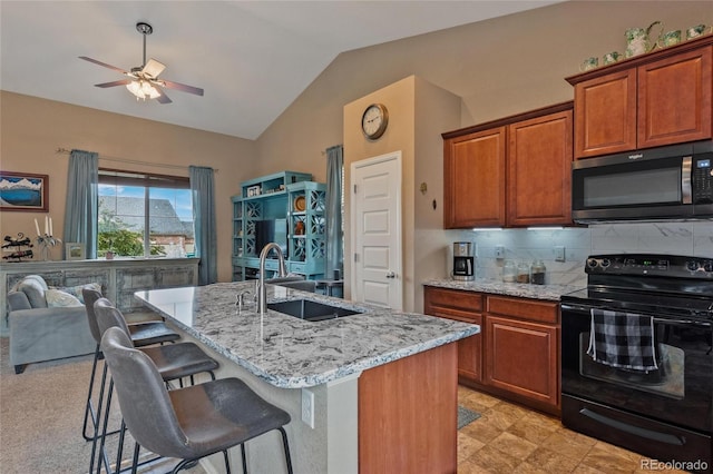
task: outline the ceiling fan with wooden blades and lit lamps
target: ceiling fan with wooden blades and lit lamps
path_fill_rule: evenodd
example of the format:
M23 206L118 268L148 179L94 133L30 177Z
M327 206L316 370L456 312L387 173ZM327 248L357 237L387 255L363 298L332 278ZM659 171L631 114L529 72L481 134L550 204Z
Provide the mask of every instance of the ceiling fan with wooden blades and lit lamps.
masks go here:
M203 96L203 89L186 86L185 83L174 82L170 80L158 79L158 75L160 75L164 69L166 69L166 65L155 60L149 59L146 62L146 36L154 32L154 28L145 22L136 23L136 30L144 36L144 62L143 66L131 68L131 71L125 71L124 69L117 68L116 66L107 65L106 62L97 61L96 59L87 58L86 56L80 56L79 59L84 59L85 61L94 62L95 65L104 66L105 68L114 69L115 71L121 72L124 76L127 76L127 79L115 80L113 82L102 82L95 85L96 87L107 88L107 87L116 87L116 86L126 86L126 88L136 96L136 100L138 99L156 99L160 103L170 103L172 100L166 96L163 91L163 87L168 89L180 90L183 92L195 93L196 96Z

